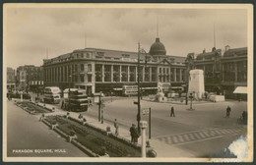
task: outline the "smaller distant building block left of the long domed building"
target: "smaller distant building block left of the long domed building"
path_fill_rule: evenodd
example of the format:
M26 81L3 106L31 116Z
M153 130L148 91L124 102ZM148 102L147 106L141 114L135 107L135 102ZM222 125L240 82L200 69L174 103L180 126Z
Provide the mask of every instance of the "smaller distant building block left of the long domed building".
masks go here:
M43 88L42 67L33 65L20 66L17 69L18 88L22 90L37 91Z

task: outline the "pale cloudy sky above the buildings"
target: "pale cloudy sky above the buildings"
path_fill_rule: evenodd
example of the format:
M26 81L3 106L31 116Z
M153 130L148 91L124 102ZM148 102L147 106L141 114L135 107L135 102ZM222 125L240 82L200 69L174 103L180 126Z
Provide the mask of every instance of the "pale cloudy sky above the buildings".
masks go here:
M41 66L46 54L53 58L85 47L136 52L138 42L149 52L158 27L167 55L211 51L214 28L217 48L247 46L245 9L84 7L6 8L6 65Z

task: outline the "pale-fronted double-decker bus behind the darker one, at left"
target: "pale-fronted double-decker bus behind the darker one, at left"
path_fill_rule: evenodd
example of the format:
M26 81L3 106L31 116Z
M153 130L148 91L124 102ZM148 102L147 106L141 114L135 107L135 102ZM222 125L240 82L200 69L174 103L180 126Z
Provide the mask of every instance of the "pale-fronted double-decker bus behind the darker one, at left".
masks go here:
M60 88L57 86L47 86L43 89L43 102L58 104L60 102Z

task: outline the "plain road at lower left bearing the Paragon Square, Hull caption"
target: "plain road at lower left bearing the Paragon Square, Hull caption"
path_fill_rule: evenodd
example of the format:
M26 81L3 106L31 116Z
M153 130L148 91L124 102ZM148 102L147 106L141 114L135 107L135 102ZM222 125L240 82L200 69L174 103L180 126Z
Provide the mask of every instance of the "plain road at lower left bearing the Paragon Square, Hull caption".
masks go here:
M7 102L7 156L88 157L12 101Z

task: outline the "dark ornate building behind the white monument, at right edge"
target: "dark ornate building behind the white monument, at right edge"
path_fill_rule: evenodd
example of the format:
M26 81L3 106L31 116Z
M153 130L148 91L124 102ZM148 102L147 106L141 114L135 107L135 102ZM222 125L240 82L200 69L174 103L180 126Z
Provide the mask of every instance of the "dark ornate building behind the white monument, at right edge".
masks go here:
M247 86L247 47L230 49L226 46L224 54L215 47L211 52L189 53L185 63L187 72L192 69L204 71L206 91L237 98L233 94L235 87Z

